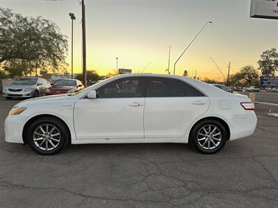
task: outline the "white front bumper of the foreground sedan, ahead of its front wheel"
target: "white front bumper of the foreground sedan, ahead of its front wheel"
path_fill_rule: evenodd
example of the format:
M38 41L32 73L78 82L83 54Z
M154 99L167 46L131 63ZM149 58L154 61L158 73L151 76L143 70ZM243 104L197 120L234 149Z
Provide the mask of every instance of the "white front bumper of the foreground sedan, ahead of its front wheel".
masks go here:
M7 116L4 124L5 140L11 143L24 144L22 132L24 128L24 119L19 115Z

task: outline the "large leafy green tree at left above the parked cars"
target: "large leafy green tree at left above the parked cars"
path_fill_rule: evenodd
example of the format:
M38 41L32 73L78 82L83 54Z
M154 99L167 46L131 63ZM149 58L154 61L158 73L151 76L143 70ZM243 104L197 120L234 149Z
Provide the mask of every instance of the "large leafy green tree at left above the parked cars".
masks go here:
M48 19L0 8L0 64L25 62L37 69L58 69L65 64L66 38Z

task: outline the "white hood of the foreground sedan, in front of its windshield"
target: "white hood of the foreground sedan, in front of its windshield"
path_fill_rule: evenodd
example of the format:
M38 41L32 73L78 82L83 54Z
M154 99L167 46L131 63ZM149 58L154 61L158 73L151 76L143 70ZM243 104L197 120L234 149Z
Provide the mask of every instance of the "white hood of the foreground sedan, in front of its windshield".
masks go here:
M15 107L19 107L19 106L24 107L24 105L29 105L33 103L58 103L60 101L72 101L77 99L78 98L76 96L67 96L67 94L54 95L54 96L42 96L38 98L27 99L25 101L17 103Z

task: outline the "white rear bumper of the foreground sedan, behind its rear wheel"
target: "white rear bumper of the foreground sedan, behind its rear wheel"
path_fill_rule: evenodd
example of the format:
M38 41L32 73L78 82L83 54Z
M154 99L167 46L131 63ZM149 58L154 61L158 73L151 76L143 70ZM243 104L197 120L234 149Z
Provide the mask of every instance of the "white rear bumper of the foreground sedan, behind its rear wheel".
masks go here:
M235 140L253 135L256 129L256 114L254 111L247 112L245 119L229 119L230 139Z

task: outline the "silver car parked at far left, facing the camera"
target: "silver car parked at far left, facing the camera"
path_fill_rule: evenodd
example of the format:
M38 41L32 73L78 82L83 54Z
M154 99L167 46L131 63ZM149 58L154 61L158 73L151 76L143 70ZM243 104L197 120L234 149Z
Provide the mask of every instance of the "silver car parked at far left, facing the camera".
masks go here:
M32 98L45 95L50 83L43 78L20 78L8 87L3 87L3 97Z

